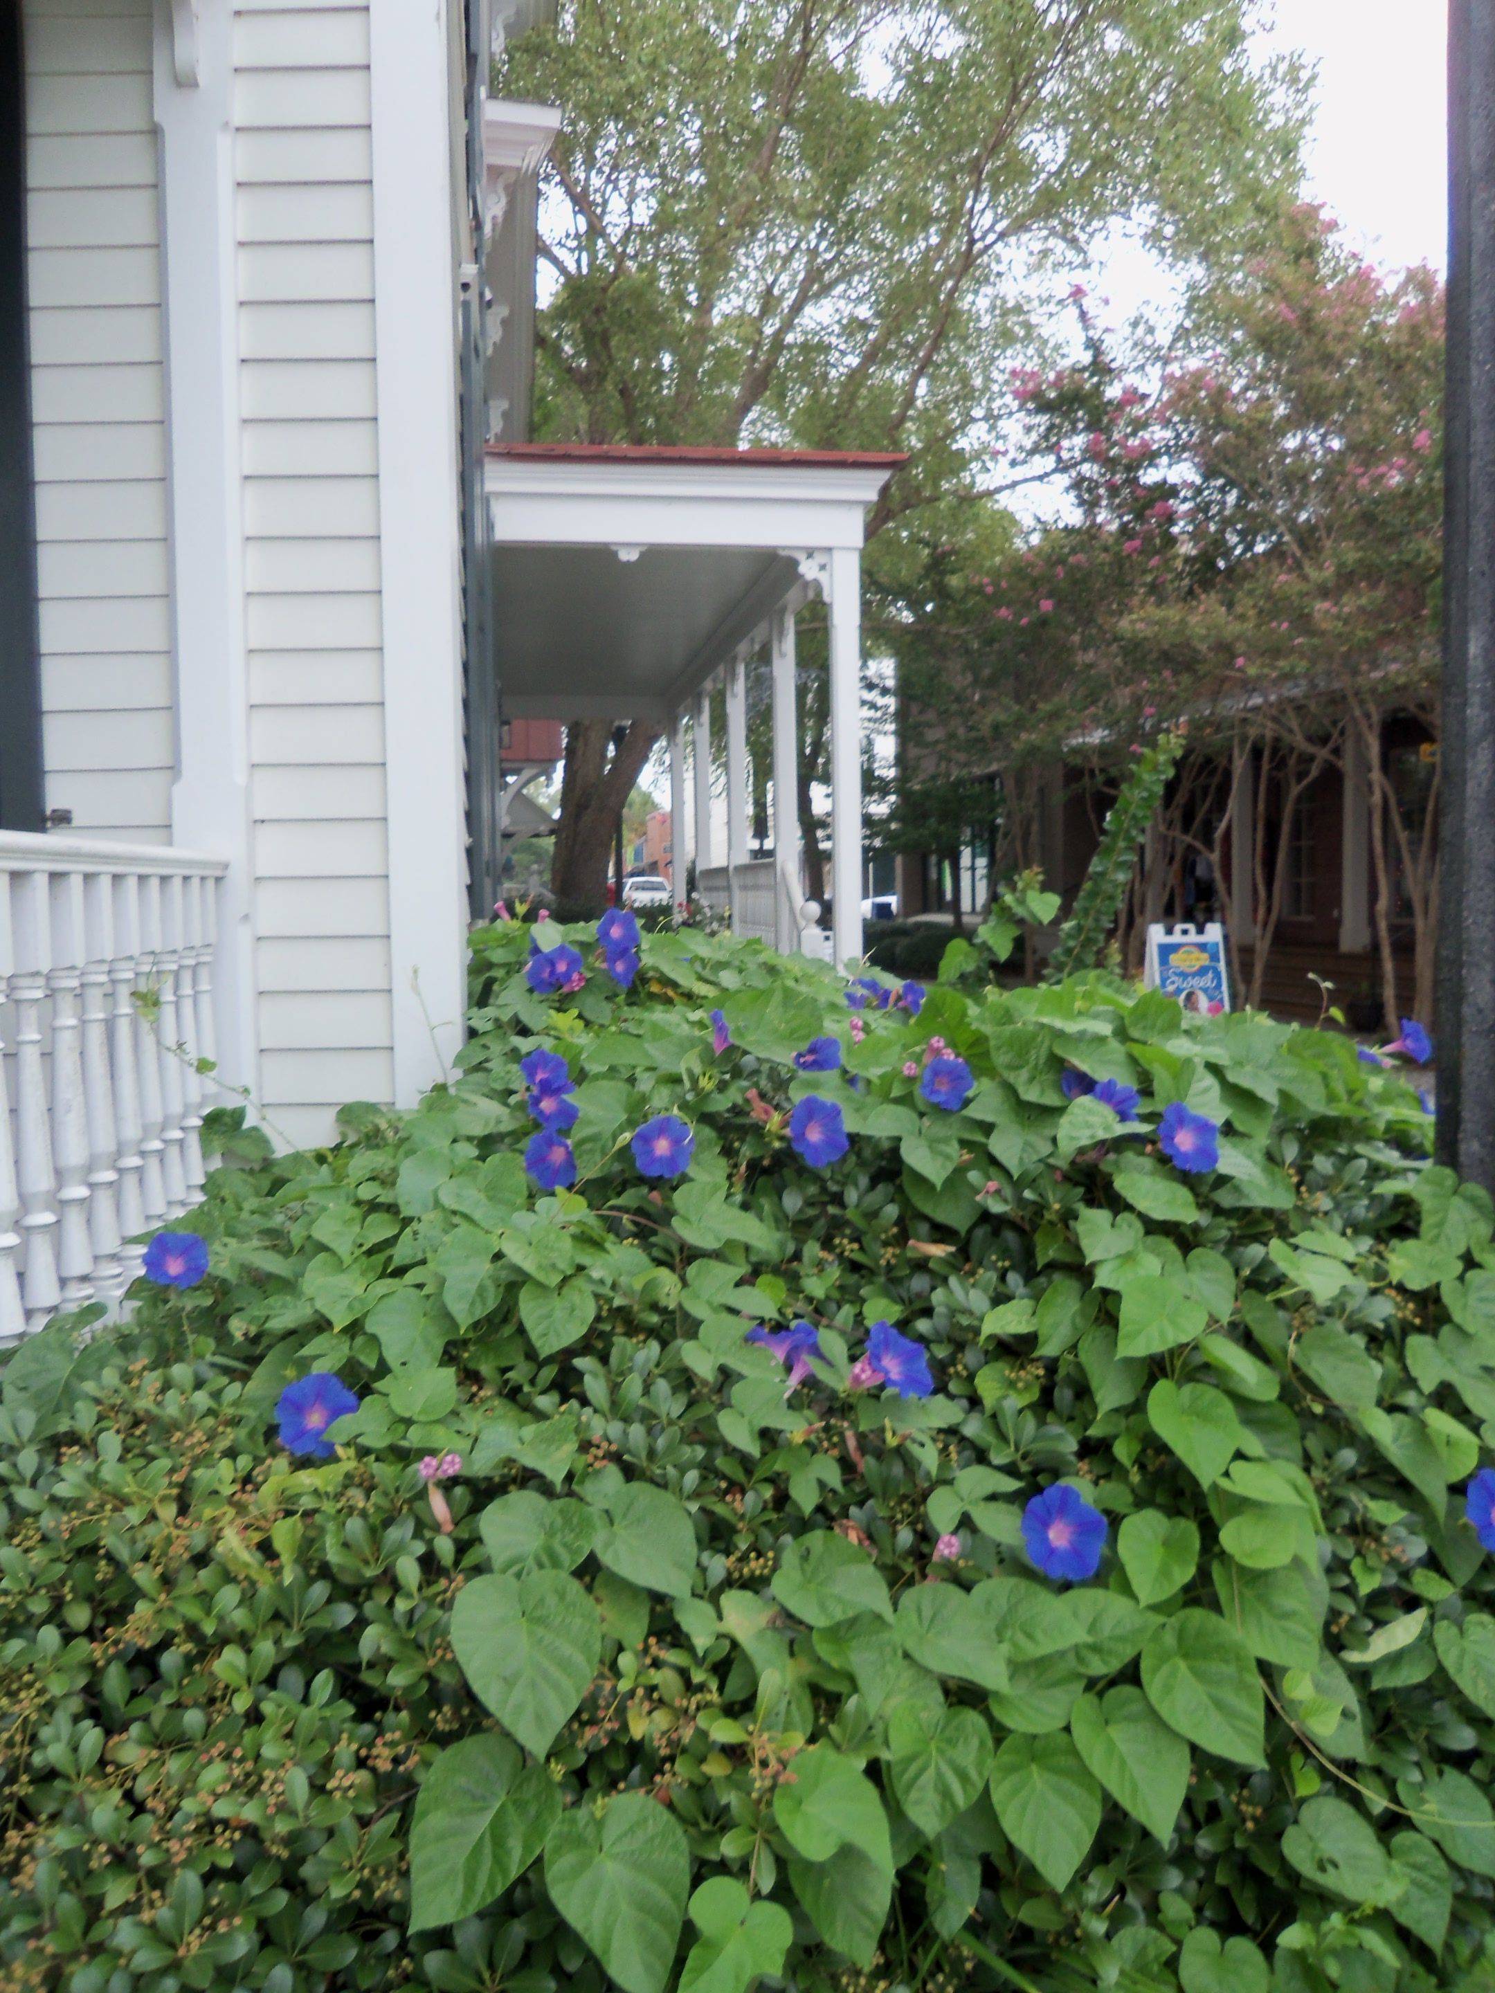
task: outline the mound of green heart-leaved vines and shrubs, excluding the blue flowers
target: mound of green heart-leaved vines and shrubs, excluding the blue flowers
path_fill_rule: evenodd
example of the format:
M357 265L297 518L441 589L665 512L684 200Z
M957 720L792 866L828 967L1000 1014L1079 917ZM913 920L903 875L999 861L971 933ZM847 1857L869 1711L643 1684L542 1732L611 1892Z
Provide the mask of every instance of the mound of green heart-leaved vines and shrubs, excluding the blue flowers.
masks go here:
M1495 1250L1411 1088L1098 977L857 1036L749 945L536 996L528 941L478 935L450 1086L217 1172L207 1281L8 1365L4 1993L1491 1985ZM1218 1170L1160 1152L1178 1100ZM746 1331L793 1319L785 1389ZM879 1319L931 1395L861 1381ZM327 1463L275 1439L313 1369L363 1401ZM1054 1483L1090 1582L1025 1557Z

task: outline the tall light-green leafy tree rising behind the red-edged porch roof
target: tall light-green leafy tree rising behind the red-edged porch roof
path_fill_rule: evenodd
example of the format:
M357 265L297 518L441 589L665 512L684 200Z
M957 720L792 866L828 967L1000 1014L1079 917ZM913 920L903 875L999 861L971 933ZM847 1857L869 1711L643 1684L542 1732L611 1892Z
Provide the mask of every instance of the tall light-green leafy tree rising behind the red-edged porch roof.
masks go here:
M907 450L869 534L915 518L971 480L1054 257L1118 217L1176 261L1218 253L1292 181L1302 92L1294 68L1252 64L1256 14L564 0L498 78L566 106L538 432ZM568 727L560 897L600 895L654 737Z

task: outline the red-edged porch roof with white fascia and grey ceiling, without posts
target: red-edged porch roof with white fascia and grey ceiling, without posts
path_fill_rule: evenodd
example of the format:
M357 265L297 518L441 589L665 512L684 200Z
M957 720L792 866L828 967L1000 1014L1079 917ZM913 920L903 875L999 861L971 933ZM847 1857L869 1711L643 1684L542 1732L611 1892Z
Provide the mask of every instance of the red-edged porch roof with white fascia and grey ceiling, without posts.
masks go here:
M494 668L514 717L658 723L817 558L859 548L901 458L831 450L490 450Z

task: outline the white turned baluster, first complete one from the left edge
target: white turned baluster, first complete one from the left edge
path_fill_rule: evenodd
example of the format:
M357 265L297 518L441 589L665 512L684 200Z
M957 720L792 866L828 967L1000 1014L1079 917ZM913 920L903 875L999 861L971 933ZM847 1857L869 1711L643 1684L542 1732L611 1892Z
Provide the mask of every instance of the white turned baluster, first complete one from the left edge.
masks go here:
M42 1002L52 963L52 919L44 873L16 879L12 899L16 973L10 1000L16 1006L16 1184L20 1234L26 1260L22 1295L26 1319L40 1329L62 1299L58 1285L58 1178L52 1168L46 1070L42 1066Z

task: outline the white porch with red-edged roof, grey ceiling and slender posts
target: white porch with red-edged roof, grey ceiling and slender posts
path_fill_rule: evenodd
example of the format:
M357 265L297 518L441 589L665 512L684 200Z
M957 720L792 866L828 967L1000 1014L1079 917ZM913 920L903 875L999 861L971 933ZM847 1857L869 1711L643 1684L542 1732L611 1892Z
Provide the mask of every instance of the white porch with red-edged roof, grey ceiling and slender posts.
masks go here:
M492 664L510 717L642 719L670 735L676 893L684 899L686 715L698 889L712 851L712 682L726 692L734 925L799 949L821 909L799 875L795 612L829 624L831 953L861 957L861 542L903 462L845 450L496 444L484 464ZM771 883L748 857L746 668L771 654Z

